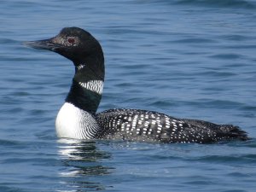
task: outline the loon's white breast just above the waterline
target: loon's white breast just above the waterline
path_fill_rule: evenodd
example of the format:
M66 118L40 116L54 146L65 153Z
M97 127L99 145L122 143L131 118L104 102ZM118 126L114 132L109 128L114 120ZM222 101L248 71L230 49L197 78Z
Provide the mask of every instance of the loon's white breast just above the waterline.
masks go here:
M55 128L58 137L92 139L99 125L90 113L65 102L57 115Z

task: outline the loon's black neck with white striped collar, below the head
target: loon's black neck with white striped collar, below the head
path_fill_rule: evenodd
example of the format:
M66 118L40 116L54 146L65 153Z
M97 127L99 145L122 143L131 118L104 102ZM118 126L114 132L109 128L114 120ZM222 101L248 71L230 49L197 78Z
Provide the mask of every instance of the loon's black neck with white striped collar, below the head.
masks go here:
M89 113L96 113L102 99L104 83L104 61L96 60L75 64L73 84L66 102Z

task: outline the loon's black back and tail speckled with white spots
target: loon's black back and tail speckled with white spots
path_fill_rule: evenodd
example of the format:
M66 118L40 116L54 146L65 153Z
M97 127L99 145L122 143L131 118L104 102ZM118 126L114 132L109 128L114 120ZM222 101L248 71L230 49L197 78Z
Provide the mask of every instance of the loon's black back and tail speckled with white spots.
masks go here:
M159 143L216 143L246 138L232 125L177 119L164 113L137 109L111 109L96 114L98 138Z

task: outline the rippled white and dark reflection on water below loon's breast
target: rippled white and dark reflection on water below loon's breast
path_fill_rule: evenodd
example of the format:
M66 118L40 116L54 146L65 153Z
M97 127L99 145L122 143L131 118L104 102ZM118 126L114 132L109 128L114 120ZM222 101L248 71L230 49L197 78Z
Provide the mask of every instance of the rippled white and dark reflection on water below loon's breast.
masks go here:
M58 154L65 167L59 173L61 184L65 189L58 191L106 189L103 183L95 181L96 177L112 172L112 167L102 166L102 160L109 159L111 154L96 148L96 143L93 141L60 139L58 143Z

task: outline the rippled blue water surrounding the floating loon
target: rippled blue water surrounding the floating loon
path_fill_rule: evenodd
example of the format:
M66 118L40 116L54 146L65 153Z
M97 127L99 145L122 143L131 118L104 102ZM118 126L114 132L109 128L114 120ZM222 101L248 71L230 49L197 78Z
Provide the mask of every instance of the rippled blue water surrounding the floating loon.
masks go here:
M0 191L254 191L256 1L2 0ZM151 109L239 125L211 145L55 137L73 78L60 55L21 42L79 26L102 44L99 111Z

